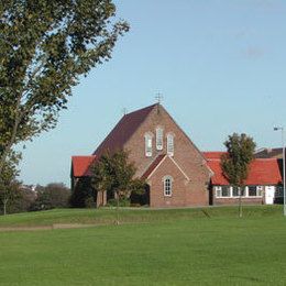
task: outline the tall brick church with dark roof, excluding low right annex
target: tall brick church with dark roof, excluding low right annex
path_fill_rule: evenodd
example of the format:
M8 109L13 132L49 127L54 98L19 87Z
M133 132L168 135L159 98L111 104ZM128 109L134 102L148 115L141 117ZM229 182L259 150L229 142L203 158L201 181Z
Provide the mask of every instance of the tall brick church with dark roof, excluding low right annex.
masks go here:
M150 187L151 207L209 205L211 170L187 134L160 103L123 116L91 156L72 158L72 189L89 177L89 166L105 152L125 150L135 177Z

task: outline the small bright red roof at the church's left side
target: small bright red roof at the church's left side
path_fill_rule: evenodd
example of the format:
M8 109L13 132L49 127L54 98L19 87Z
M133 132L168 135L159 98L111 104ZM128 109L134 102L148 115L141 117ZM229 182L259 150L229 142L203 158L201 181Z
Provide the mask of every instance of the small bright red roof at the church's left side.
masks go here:
M73 156L72 157L72 176L87 177L90 176L90 166L95 163L97 156Z

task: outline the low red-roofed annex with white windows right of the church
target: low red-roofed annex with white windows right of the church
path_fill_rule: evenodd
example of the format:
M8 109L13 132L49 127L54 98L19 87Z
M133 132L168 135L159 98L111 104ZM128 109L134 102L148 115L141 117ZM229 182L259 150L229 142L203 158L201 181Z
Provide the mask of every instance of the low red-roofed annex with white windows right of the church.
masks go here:
M224 152L205 152L213 172L210 179L210 205L232 205L239 199L239 189L230 186L223 176L220 158ZM243 204L273 205L283 199L282 168L277 158L255 158L250 164L249 177L242 190Z

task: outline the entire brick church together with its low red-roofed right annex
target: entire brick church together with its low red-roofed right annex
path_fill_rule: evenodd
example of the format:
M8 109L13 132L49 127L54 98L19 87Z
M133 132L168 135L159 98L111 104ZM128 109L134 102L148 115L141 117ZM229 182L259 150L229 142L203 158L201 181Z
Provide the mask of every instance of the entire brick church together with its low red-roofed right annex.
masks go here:
M73 156L72 190L90 187L91 164L96 164L105 152L118 150L129 152L129 160L136 167L135 177L147 183L151 207L238 201L238 191L222 175L220 153L201 153L160 103L123 116L92 155ZM246 204L267 202L265 196L271 193L274 197L282 182L277 160L255 160L250 177L243 200ZM106 197L98 196L97 204L105 205Z

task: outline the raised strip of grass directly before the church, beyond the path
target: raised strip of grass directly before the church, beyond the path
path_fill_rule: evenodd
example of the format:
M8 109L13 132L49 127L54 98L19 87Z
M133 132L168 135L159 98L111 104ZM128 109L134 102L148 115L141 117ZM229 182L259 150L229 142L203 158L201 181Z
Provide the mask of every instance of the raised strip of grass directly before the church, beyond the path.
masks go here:
M244 206L244 218L280 217L282 206ZM119 219L122 223L166 222L209 218L237 218L238 207L205 207L186 209L121 208ZM117 210L101 209L54 209L48 211L22 212L0 216L0 228L41 227L56 223L113 224Z

